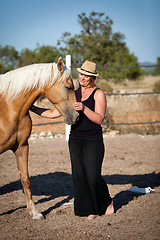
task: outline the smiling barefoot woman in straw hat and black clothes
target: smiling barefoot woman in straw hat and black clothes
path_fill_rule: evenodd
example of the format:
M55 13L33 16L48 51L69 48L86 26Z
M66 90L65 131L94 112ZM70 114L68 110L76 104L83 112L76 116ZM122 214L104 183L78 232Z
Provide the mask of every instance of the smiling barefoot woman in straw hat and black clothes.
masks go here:
M101 176L104 143L101 123L106 112L104 92L95 85L96 64L86 60L79 72L80 87L76 90L74 109L80 117L71 126L69 150L74 185L74 212L94 219L114 212L108 187ZM60 117L58 110L34 107L32 111L47 118Z

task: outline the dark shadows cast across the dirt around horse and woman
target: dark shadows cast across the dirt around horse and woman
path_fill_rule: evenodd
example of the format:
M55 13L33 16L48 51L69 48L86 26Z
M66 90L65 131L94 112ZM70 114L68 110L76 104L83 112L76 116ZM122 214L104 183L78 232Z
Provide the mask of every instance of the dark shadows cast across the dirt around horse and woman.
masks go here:
M137 187L157 187L160 186L160 173L148 173L139 175L105 175L103 176L107 184L111 185L125 185L131 184ZM54 172L43 175L37 175L30 177L31 190L33 195L45 196L44 198L38 200L35 204L49 202L58 197L64 197L61 202L56 203L56 205L51 206L43 215L49 214L53 209L60 207L63 203L68 202L74 197L72 176L71 174L65 172ZM0 195L11 193L22 189L20 180L11 182L0 187ZM132 193L130 191L121 191L115 195L113 201L115 206L115 212L122 206L127 205L129 201L132 201L134 197L139 197L142 194ZM20 208L25 208L25 206L7 211L0 215L10 214Z

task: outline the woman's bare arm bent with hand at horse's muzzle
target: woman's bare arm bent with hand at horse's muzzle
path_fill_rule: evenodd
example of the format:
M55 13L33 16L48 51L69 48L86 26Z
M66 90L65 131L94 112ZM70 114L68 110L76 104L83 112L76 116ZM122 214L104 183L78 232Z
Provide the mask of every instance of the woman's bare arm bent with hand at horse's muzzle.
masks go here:
M98 89L95 93L95 111L92 111L86 107L82 102L76 102L74 109L76 111L82 110L84 114L92 121L97 124L101 124L104 120L106 113L106 97L102 90Z

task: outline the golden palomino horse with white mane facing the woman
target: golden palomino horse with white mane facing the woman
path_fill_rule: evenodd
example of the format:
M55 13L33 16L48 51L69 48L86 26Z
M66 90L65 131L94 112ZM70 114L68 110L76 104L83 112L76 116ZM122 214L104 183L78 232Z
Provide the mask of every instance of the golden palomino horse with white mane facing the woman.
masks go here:
M72 124L78 113L73 109L76 101L71 71L62 58L58 63L33 64L0 75L0 153L15 153L27 208L33 219L42 218L35 208L28 174L28 138L32 121L29 108L45 95Z

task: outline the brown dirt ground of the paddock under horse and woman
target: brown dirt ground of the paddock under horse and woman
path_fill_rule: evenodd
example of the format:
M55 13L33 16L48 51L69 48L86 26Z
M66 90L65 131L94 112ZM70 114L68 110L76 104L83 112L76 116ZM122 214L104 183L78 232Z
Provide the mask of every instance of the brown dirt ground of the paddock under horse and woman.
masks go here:
M26 209L15 158L0 156L0 239L160 239L160 135L104 137L102 175L115 213L88 221L74 216L74 192L65 138L30 139L29 172L33 199L45 219ZM152 187L136 194L131 186ZM65 205L66 203L69 203Z

